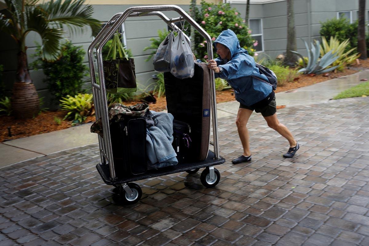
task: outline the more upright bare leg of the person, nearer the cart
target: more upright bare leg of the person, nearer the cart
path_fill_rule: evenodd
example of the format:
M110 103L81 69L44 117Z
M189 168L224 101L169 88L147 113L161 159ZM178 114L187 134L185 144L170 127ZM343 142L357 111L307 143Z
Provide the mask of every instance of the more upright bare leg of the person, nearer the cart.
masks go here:
M236 125L238 130L239 139L241 139L242 147L244 148L244 156L250 156L250 141L249 132L247 131L246 124L249 121L251 110L245 108L239 108L237 113Z

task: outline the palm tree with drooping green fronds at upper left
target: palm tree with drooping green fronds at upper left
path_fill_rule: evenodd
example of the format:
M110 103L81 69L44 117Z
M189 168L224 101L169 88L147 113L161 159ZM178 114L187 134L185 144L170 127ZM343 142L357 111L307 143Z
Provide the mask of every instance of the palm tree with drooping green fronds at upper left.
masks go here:
M42 58L46 60L57 59L60 53L60 42L64 38L63 26L70 32L80 30L86 26L93 31L100 29L100 21L92 18L93 7L86 5L85 0L50 0L39 3L38 0L4 0L7 8L0 14L0 30L10 35L18 45L17 75L13 90L18 90L23 83L32 83L28 73L27 53L25 39L31 31L37 32L42 40ZM34 86L28 86L24 94L37 93ZM21 98L21 97L18 97ZM38 111L38 98L32 101L32 113ZM20 102L13 108L15 116L20 117L24 108L30 102ZM23 103L23 104L22 104ZM28 114L32 115L32 114Z

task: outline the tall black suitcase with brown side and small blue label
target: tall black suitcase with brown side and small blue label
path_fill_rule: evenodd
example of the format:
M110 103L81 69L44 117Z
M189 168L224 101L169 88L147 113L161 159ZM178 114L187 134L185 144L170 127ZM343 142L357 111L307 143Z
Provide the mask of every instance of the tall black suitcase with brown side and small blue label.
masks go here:
M168 113L191 126L191 145L187 162L205 160L210 141L210 74L206 63L195 62L192 78L177 79L164 73ZM183 158L182 158L183 159Z

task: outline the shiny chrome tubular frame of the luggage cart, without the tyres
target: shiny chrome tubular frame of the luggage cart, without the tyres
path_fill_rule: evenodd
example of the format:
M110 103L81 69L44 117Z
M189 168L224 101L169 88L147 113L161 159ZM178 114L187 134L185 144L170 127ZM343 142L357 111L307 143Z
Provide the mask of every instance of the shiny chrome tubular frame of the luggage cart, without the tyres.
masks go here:
M175 11L180 15L180 17L169 19L161 11ZM90 77L91 77L92 93L93 93L94 104L95 104L96 118L97 119L101 118L102 125L103 125L103 132L104 132L103 138L101 138L100 135L98 137L99 146L100 146L101 163L97 165L97 169L105 183L123 188L128 201L130 198L135 196L134 194L135 189L132 187L129 187L127 185L128 182L139 180L139 179L145 179L148 177L161 176L161 175L165 175L169 173L175 173L179 171L186 171L186 169L182 168L182 169L176 169L175 171L166 171L166 172L158 173L155 175L142 176L136 179L126 179L124 181L118 180L115 174L113 151L112 151L111 139L110 139L108 110L107 110L108 104L107 104L107 97L106 97L104 72L103 72L102 48L107 43L107 41L111 38L114 32L118 30L121 24L128 17L139 17L143 15L145 16L157 15L164 22L166 22L166 24L168 24L170 27L173 27L173 28L178 28L174 24L175 22L186 20L207 41L208 58L209 60L213 59L213 46L212 46L212 41L211 41L210 36L182 8L176 5L155 5L155 6L140 6L140 7L127 8L127 10L125 10L123 13L115 14L107 22L107 24L103 27L103 29L99 32L99 34L97 34L96 38L92 41L91 45L89 46L88 58L89 58ZM94 53L94 51L96 51L96 53ZM96 83L97 78L96 78L96 71L95 71L95 65L94 65L95 55L96 55L96 62L97 62L96 66L97 66L97 75L98 75L99 83ZM214 178L216 178L213 165L224 163L225 160L219 155L217 105L216 105L216 99L215 99L215 82L214 82L214 71L213 70L211 70L211 73L210 73L209 83L210 83L211 115L212 115L212 123L213 123L213 141L210 141L210 144L214 146L214 152L213 152L214 155L210 157L213 159L213 161L198 163L198 165L196 165L196 167L193 169L198 170L198 168L200 167L207 167L207 170L209 171L208 177L210 178L210 181L212 181L214 180Z

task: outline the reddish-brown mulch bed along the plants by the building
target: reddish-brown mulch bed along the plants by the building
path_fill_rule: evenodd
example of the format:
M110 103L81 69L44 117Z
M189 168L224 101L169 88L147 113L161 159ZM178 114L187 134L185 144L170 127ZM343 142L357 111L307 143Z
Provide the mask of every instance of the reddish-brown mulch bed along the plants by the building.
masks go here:
M343 72L331 72L328 75L301 75L294 82L287 83L284 86L277 87L277 92L294 90L299 87L309 86L311 84L320 83L325 80L334 79L353 73L359 72L361 69L369 68L369 60L360 60L360 65L354 65ZM227 101L233 101L234 95L231 89L224 91L217 91L217 103L223 103ZM128 101L126 105L134 105L141 103L139 100ZM150 104L150 110L162 111L165 110L166 100L165 97L157 98L155 104ZM279 108L283 108L283 105L279 105ZM27 136L42 134L46 132L58 131L61 129L72 127L68 121L62 121L59 125L55 121L56 118L64 118L66 112L63 111L46 111L41 112L39 115L32 119L15 119L12 116L1 115L0 116L0 142L4 142L11 139L23 138ZM85 123L95 121L94 116L87 117Z

